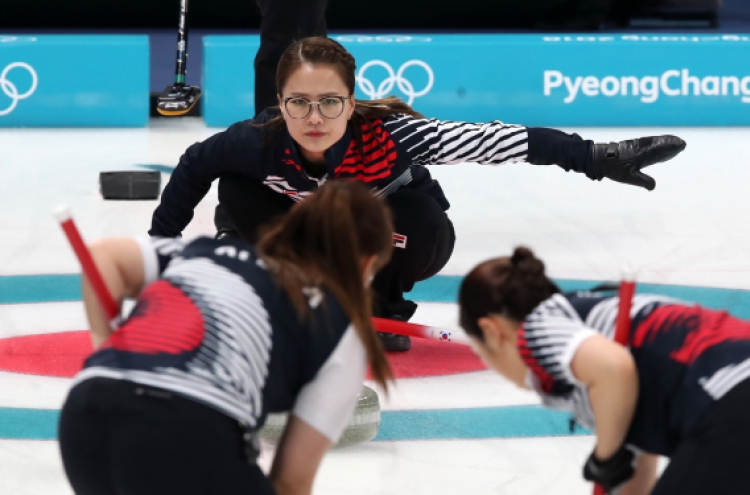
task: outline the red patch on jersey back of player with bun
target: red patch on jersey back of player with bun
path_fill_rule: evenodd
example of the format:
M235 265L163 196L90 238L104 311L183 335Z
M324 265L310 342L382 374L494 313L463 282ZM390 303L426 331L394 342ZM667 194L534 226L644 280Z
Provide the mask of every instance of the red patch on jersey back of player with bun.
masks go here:
M723 342L750 340L750 323L726 311L712 311L700 306L670 305L655 309L636 328L633 347L653 341L660 332L682 332L687 336L670 357L680 363L693 363L706 349Z

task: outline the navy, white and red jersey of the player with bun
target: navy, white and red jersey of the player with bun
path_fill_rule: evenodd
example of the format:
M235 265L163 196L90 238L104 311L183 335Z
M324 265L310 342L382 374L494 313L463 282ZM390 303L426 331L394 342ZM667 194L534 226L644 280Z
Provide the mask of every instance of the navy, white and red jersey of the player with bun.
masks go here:
M588 391L570 363L592 335L614 340L618 305L618 297L601 293L556 294L519 332L529 381L543 402L572 412L589 428L595 424ZM627 442L670 456L715 401L750 377L750 323L655 295L636 295L631 317L639 395Z

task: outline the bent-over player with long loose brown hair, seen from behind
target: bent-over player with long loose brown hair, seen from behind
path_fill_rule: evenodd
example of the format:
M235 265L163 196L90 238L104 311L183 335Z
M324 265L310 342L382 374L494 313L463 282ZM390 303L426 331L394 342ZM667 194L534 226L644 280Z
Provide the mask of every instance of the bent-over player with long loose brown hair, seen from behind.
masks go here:
M370 280L393 225L361 184L296 205L257 247L233 238L106 239L94 259L117 301L114 333L84 285L94 354L60 418L76 495L309 494L369 363L392 376L370 323ZM268 478L255 432L290 410Z

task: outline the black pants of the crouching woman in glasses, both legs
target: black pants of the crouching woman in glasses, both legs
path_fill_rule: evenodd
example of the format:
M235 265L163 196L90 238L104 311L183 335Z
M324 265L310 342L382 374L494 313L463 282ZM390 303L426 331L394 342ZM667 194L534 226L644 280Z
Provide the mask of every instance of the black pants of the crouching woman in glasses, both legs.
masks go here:
M220 207L216 209L218 230L236 229L248 242L255 242L258 228L286 213L294 201L242 175L224 175L219 180ZM438 273L453 253L456 235L448 215L423 191L403 188L386 198L393 213L396 234L405 245L393 249L393 258L373 280L374 313L408 320L417 309L404 299L414 284ZM223 207L223 208L222 208Z

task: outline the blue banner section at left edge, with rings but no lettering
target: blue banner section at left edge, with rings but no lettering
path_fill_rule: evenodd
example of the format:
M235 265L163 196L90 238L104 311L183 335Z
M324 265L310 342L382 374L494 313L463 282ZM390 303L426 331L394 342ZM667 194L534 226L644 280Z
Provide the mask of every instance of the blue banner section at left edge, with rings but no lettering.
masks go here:
M0 35L0 127L139 127L145 35Z

